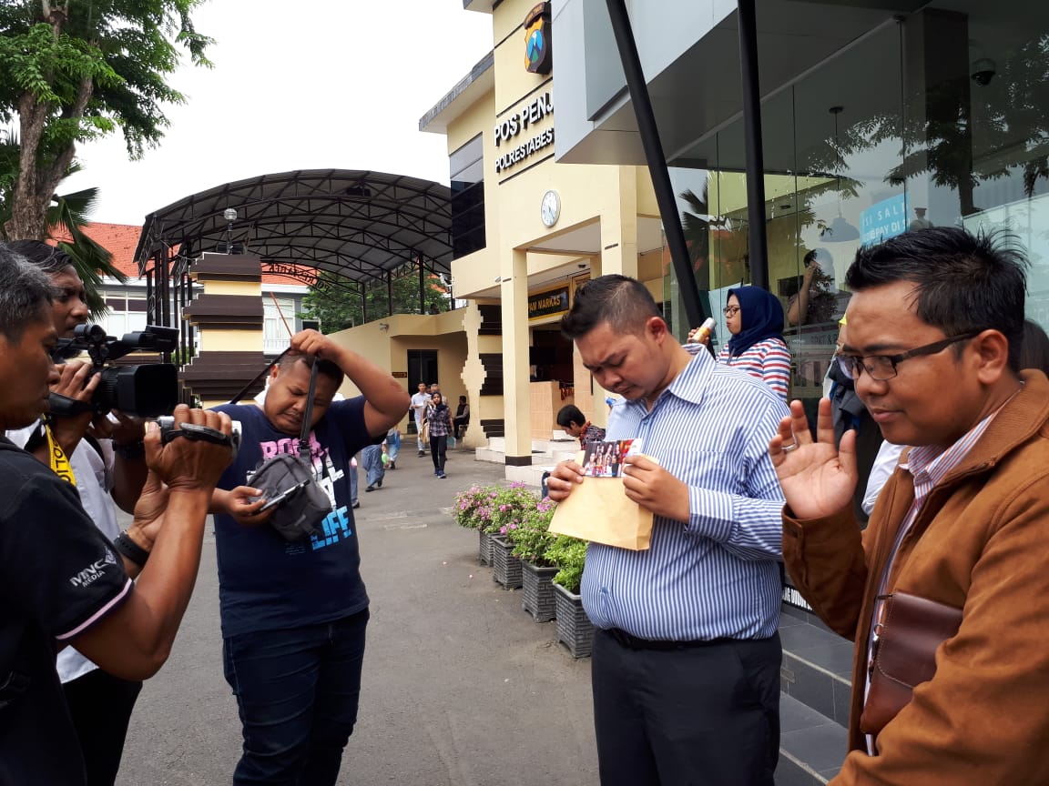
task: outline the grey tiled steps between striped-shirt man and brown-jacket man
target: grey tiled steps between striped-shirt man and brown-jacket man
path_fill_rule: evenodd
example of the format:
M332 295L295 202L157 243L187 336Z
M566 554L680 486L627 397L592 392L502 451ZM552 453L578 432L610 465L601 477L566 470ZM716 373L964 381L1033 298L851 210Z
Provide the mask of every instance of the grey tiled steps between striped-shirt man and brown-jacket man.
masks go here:
M848 750L853 645L811 612L788 604L779 618L779 638L784 660L776 784L825 784Z

